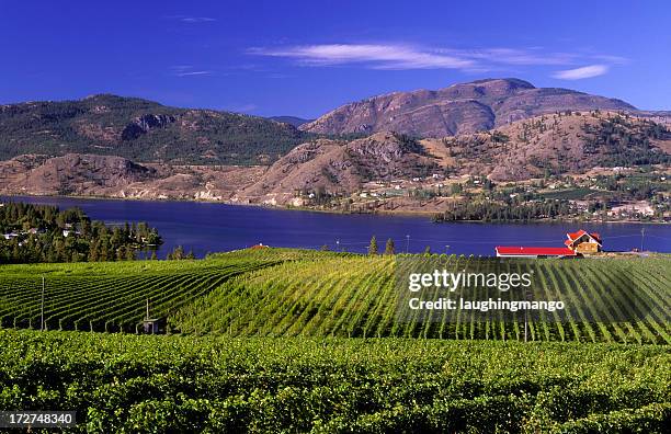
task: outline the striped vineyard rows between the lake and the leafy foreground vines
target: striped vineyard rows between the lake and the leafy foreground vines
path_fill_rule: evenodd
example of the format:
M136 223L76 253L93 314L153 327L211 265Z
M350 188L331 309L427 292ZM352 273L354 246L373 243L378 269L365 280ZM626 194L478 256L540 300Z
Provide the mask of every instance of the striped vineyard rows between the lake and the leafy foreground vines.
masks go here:
M457 269L477 261L444 259ZM201 261L7 265L0 319L3 328L39 329L45 276L47 330L136 332L149 300L152 317L185 334L671 343L668 256L532 261L544 290L579 288L572 301L585 307L568 320L526 326L464 311L399 321L397 263L393 256L263 249ZM595 300L612 318L592 319Z

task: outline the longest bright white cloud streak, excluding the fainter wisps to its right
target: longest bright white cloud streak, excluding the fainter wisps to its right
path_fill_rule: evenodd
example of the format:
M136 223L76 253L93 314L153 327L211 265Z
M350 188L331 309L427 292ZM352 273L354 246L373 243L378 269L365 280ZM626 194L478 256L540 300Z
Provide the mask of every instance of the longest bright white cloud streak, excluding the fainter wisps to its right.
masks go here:
M376 69L460 69L474 61L402 45L326 44L252 48L250 54L288 57L307 66L366 64Z

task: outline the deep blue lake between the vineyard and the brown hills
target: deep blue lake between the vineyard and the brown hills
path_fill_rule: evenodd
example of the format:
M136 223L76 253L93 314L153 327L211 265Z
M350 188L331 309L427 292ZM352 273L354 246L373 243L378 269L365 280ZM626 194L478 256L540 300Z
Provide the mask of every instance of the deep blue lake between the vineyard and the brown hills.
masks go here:
M671 226L638 224L433 224L427 216L336 215L231 206L202 202L118 201L72 197L4 197L33 204L78 206L92 219L106 222L147 221L158 228L164 244L159 256L177 245L202 258L257 243L365 252L372 236L380 250L388 238L397 252L433 252L493 255L496 245L562 247L567 231L600 232L605 250L644 249L671 252Z

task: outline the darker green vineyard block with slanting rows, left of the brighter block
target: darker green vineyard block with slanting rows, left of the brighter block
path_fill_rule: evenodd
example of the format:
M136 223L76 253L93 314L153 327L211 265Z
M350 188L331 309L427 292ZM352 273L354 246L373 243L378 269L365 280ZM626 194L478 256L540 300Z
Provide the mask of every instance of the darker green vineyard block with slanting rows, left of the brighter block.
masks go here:
M277 261L231 255L212 261L5 265L0 275L0 324L137 332L147 301L152 316L170 317L231 277Z

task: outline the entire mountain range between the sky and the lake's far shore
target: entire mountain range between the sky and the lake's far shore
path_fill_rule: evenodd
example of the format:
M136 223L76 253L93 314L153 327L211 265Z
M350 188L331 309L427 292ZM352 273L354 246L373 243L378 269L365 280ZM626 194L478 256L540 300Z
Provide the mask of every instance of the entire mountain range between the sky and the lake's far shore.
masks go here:
M106 94L27 102L0 106L0 193L303 205L431 176L668 168L669 119L519 79L374 96L307 123Z

